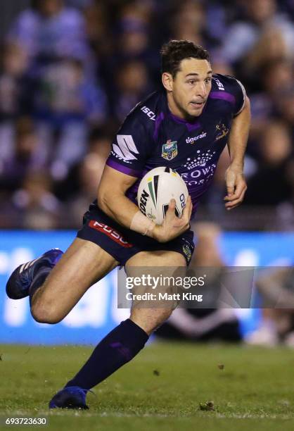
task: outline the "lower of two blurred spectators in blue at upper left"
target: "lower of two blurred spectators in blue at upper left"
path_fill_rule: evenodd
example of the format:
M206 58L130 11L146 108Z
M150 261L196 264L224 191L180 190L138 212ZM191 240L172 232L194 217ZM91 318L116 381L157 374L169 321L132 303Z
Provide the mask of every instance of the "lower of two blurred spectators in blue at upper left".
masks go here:
M46 68L34 101L34 116L47 152L52 175L68 174L70 165L87 152L87 127L106 120L106 94L84 74L82 63L64 60Z

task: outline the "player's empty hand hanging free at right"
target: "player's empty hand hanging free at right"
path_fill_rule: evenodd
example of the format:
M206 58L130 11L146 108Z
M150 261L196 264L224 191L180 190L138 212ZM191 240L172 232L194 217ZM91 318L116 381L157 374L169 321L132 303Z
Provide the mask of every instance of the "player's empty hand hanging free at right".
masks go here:
M235 168L233 165L229 165L226 170L226 191L227 194L224 197L226 204L224 205L227 210L236 208L240 205L244 199L247 185L245 182L243 170Z

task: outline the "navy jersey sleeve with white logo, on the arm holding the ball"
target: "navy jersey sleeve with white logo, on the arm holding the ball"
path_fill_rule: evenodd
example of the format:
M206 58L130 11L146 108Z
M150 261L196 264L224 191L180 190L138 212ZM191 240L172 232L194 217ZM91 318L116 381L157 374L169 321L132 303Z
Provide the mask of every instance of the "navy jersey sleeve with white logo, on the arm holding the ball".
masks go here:
M141 177L148 158L151 139L142 122L140 111L132 111L117 132L106 165L120 172Z

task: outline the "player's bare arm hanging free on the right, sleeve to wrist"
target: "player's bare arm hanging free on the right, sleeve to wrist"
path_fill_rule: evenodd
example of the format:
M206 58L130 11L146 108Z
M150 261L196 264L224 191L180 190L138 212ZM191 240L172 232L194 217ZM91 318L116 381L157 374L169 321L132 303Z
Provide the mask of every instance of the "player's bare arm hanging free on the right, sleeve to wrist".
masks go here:
M250 101L246 97L245 107L233 120L229 134L228 148L231 165L243 172L244 154L250 129Z

